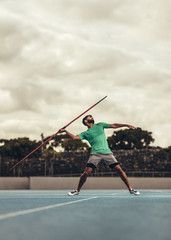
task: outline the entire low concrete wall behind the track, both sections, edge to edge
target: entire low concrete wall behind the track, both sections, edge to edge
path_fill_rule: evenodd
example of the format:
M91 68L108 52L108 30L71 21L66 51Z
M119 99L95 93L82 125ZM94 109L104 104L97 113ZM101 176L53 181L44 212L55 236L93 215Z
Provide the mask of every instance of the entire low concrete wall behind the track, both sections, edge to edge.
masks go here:
M171 189L171 178L135 178L129 181L137 189ZM79 177L0 177L0 190L75 189ZM89 177L83 189L126 189L118 177Z

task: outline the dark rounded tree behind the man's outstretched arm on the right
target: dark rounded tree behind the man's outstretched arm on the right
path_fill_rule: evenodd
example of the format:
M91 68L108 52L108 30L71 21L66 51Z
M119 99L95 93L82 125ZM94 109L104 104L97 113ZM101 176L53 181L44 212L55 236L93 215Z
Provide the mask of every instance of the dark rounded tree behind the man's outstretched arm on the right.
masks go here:
M108 137L111 149L143 149L149 147L154 142L152 133L141 128L126 129L114 132Z

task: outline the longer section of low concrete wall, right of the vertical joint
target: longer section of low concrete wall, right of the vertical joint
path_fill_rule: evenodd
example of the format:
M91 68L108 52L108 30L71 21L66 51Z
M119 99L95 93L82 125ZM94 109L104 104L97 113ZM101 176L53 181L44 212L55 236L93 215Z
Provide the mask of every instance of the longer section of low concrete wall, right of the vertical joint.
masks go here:
M171 178L129 178L137 189L171 189ZM31 177L30 189L75 189L79 177ZM125 184L118 177L89 177L83 189L125 189Z

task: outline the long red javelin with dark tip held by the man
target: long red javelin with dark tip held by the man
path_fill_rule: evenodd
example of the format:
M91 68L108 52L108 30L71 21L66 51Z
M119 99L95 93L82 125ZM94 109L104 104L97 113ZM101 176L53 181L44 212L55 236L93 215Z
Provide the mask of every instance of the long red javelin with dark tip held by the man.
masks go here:
M97 103L95 103L93 106L91 106L90 108L88 108L85 112L81 113L78 117L76 117L74 120L72 120L71 122L69 122L67 125L65 125L62 129L65 129L66 127L68 127L71 123L73 123L74 121L76 121L78 118L80 118L83 114L85 114L86 112L88 112L90 109L92 109L93 107L95 107L97 104L99 104L101 101L103 101L107 96L105 96L104 98L102 98L101 100L99 100ZM18 163L16 163L14 166L12 166L9 170L11 171L13 168L15 168L17 165L19 165L20 163L22 163L26 158L28 158L30 155L32 155L34 152L36 152L39 148L41 148L43 145L45 145L47 142L49 142L54 136L56 136L59 133L59 131L57 131L55 134L53 134L50 138L48 138L45 142L43 142L40 146L38 146L36 149L34 149L31 153L29 153L27 156L25 156L23 159L21 159Z

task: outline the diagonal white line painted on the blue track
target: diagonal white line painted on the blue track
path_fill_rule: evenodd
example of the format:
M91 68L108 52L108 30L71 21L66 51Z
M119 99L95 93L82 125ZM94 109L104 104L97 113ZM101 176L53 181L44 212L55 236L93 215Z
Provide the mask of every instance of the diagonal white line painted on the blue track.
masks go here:
M72 202L58 203L58 204L48 205L48 206L40 207L40 208L33 208L33 209L27 209L27 210L18 211L18 212L5 213L5 214L0 215L0 220L17 217L17 216L21 216L21 215L25 215L25 214L29 214L29 213L40 212L40 211L44 211L44 210L48 210L48 209L56 208L56 207L61 207L61 206L65 206L65 205L69 205L69 204L73 204L73 203L88 201L88 200L95 199L95 198L97 198L97 197L84 198L84 199L80 199L80 200L72 201Z

